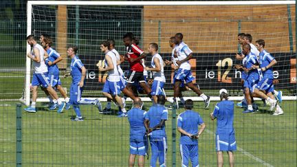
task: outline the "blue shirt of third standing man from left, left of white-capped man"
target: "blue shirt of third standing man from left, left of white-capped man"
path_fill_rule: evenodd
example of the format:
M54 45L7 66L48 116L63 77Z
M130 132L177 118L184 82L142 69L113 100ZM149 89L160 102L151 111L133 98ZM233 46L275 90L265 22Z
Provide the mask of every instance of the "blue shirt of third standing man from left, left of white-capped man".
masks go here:
M192 110L184 111L183 113L179 114L177 118L177 127L184 129L184 131L192 135L197 135L198 126L203 123L204 122L199 113ZM198 144L197 140L192 140L190 137L184 134L181 134L179 141L180 144Z

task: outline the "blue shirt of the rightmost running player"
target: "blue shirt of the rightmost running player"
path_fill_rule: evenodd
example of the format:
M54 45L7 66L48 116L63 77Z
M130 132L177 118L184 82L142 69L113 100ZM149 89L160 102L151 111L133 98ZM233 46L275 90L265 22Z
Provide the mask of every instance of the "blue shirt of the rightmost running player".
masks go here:
M260 67L266 67L267 65L269 65L272 60L274 60L274 57L270 55L270 53L266 52L265 50L263 50L262 52L260 52ZM272 67L270 67L269 69L267 69L266 71L262 71L263 74L263 78L270 78L273 79L273 70Z

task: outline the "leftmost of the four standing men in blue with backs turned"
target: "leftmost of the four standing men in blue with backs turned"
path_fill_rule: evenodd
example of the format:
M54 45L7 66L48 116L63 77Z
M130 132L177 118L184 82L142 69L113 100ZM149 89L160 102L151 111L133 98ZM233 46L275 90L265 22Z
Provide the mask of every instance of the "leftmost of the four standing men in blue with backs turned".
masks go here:
M135 157L138 155L138 166L144 166L144 156L146 155L146 129L144 127L144 116L146 111L141 109L142 100L135 98L133 108L128 111L130 124L130 156L129 167L134 166Z

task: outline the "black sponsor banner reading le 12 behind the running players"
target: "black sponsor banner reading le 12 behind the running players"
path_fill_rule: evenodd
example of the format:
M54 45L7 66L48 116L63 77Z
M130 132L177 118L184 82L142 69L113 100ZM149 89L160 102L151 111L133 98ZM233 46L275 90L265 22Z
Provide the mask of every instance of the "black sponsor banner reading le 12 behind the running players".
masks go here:
M160 54L164 60L170 60L170 54ZM241 71L234 65L241 65L241 60L235 60L234 53L193 54L190 60L192 75L200 89L241 89ZM296 59L294 53L274 53L277 60L274 66L275 89L294 89L296 84ZM87 69L86 90L102 89L107 78L106 73L99 73L97 63L104 64L104 56L80 56ZM146 66L151 66L151 55L146 57ZM124 75L129 71L129 63L121 65ZM172 89L174 70L171 66L164 67L166 76L165 89ZM148 84L153 82L153 74L148 71Z

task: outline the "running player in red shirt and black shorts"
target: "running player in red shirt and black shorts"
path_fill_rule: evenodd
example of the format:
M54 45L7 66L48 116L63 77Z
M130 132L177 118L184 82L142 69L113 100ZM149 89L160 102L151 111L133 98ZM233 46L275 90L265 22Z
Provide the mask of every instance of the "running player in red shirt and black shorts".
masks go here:
M146 54L144 54L144 51L140 49L138 45L135 45L135 43L132 43L133 34L127 33L123 36L124 45L126 46L126 55L125 60L128 60L130 64L130 71L127 77L127 85L124 88L123 92L133 92L132 85L134 82L139 82L140 87L144 89L146 94L149 98L151 98L151 89L146 85L146 80L144 78L144 67L142 65L142 58L146 57ZM130 98L133 100L135 99L135 96L130 96L127 94Z

